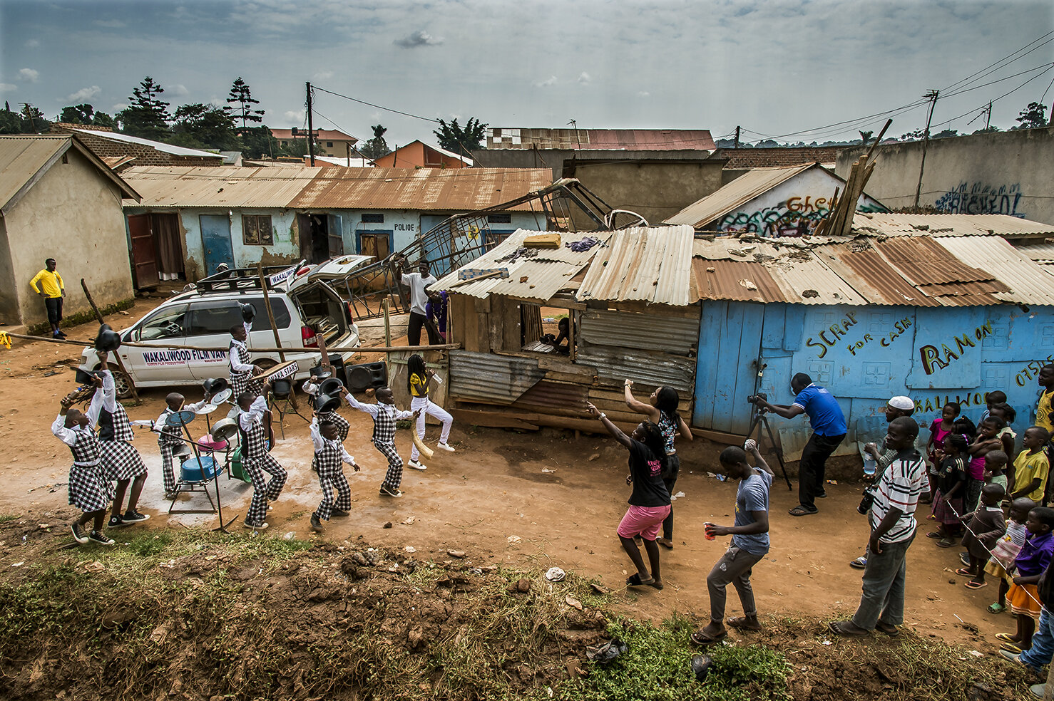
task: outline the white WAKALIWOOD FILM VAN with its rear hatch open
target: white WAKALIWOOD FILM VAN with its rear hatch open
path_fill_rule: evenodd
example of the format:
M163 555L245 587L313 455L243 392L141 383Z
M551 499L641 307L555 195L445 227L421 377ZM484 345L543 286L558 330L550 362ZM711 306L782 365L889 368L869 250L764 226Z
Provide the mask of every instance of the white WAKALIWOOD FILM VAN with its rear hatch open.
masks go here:
M325 336L328 353L339 354L343 362L351 361L359 343L358 327L350 304L330 283L372 260L371 256L341 256L314 267L300 263L287 268L265 268L281 348L286 360L298 361L299 369L294 378L306 377L310 368L318 364L320 356L317 353L297 353L297 348L318 347L316 331ZM196 289L165 300L130 328L119 332L122 344L135 342L157 347L121 345L118 354L131 377L123 377L116 363L111 364L118 396L131 395L130 381L136 387L161 387L200 384L209 378L228 377L230 329L241 324L241 304L256 307L247 342L251 362L260 369L278 363L277 353L253 350L254 347L275 347L256 271L226 271L202 279ZM218 349L194 350L172 345ZM93 347L84 348L80 361L82 369L99 366L99 357Z

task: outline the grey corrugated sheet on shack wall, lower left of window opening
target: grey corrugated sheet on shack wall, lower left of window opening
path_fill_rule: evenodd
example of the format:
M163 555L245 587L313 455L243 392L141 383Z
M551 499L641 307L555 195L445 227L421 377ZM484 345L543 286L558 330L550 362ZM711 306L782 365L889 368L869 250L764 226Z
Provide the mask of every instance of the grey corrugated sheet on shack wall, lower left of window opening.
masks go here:
M450 396L511 404L545 377L534 358L450 352Z

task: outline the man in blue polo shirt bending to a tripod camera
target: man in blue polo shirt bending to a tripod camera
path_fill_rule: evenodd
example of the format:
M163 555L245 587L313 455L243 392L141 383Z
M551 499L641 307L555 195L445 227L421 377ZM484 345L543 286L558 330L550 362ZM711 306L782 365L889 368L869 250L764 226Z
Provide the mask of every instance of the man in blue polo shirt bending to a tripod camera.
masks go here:
M804 373L790 378L790 389L796 396L789 406L769 404L760 397L755 404L758 408L784 419L793 419L800 414L808 416L813 435L808 437L808 443L801 452L801 462L798 463L798 501L801 503L790 509L790 516L808 516L819 510L816 500L827 496L823 476L827 468L827 458L845 438L845 415L834 395L814 384L813 378Z

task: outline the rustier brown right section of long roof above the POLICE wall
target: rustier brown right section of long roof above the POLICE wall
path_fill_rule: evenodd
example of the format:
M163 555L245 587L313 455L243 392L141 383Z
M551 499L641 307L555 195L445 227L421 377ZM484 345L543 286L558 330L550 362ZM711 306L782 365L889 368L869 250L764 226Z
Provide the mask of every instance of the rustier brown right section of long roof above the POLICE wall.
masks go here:
M289 202L295 208L473 212L552 184L549 168L326 167ZM530 204L510 207L530 211Z

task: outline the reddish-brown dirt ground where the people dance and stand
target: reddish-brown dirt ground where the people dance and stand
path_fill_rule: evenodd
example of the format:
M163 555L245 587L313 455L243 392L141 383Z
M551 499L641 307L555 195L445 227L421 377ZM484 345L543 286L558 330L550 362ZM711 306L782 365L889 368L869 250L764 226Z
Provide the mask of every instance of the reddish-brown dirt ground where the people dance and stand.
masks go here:
M156 300L137 300L128 317L113 319L125 326L153 308ZM84 325L67 329L71 340L86 341L96 328ZM396 343L404 342L402 339ZM4 489L0 492L0 515L31 517L41 522L72 520L66 504L69 450L50 433L58 401L74 388L79 348L43 342L16 340L12 349L0 347L0 441ZM168 389L140 393L142 405L129 406L132 419L156 418ZM189 401L199 399L187 388ZM335 519L326 533L314 535L309 517L320 490L310 470L311 441L307 422L295 415L285 420L285 439L279 437L273 455L289 469L289 481L274 510L268 516L271 529L293 533L297 538L323 541L354 541L365 536L371 544L413 547L418 560L432 554L445 557L448 549L466 550L476 562L505 564L544 570L560 566L586 578L599 578L612 589L622 589L629 565L614 534L625 510L628 487L626 453L612 439L570 432L539 433L476 428L455 423L451 444L454 454L436 452L426 472L407 469L405 497L393 500L377 495L386 462L369 442L372 423L368 416L341 413L351 421L348 450L363 472L348 472L353 493L351 518ZM204 434L200 418L192 433ZM437 428L429 426L426 440L434 442ZM401 430L396 444L404 459L410 450L410 434ZM150 477L139 510L151 520L134 528L178 528L181 525L215 524L212 515L168 515L162 499L160 458L156 441L137 430L136 445ZM703 538L703 522L730 523L735 507L733 482L719 481L708 473L721 446L697 439L679 445L681 478L675 503L676 547L663 550L662 592L625 592L627 613L642 619L664 619L680 612L705 617L708 596L705 578L727 542ZM867 526L856 513L859 487L827 486L828 498L820 502L820 514L793 518L787 509L797 503L795 490L777 479L772 492L773 547L754 573L758 608L803 619L831 619L852 613L860 593L860 572L848 561L862 553ZM232 528L240 528L250 498L250 487L238 481L220 480L226 519L237 517ZM207 505L203 496L183 496L177 507ZM996 654L994 636L1013 630L1009 615L985 613L995 600L995 584L979 592L963 586L954 574L959 548L940 549L924 537L926 522L909 552L906 625L921 636L962 643L987 655ZM120 542L122 532L111 532ZM69 534L61 527L54 538L62 542ZM84 546L90 547L90 546ZM0 558L0 576L12 572L8 550ZM729 592L729 615L739 602Z

